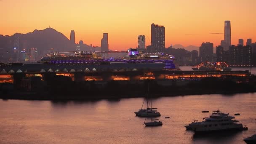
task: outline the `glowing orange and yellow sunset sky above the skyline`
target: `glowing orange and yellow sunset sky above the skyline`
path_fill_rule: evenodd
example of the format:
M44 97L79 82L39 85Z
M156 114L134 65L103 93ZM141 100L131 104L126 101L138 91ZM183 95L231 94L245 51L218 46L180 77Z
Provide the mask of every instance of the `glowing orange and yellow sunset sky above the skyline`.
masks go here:
M27 33L52 27L76 43L101 45L109 34L109 49L136 48L138 35L150 45L150 25L165 26L165 47L171 44L220 45L224 21L231 21L232 44L238 38L256 41L256 0L0 0L0 34ZM189 34L189 35L188 35ZM190 35L191 34L191 35ZM149 37L149 38L148 38Z

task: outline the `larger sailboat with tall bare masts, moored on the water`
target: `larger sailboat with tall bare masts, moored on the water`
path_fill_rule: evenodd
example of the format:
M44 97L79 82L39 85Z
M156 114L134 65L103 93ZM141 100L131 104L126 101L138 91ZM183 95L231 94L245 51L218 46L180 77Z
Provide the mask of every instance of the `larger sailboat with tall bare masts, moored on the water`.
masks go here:
M147 91L147 108L143 109L143 105L145 102L145 99L144 99L141 109L139 109L138 112L134 112L134 113L138 117L159 117L161 114L159 112L157 112L157 110L154 110L157 108L152 107L152 99L151 99L151 108L149 108L150 103L148 102L148 100L149 100L149 86L148 86L148 91Z

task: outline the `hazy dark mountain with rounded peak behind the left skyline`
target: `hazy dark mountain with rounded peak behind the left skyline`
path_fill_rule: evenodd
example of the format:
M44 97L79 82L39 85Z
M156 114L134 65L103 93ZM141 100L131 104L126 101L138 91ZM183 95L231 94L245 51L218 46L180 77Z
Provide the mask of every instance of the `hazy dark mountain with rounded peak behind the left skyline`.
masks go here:
M79 44L72 44L70 40L63 35L61 32L56 31L53 28L46 28L43 30L35 29L33 32L27 34L15 33L14 35L8 37L8 41L11 41L11 46L14 45L15 40L19 37L20 48L37 48L37 51L42 56L43 53L54 48L54 51L75 51L76 46ZM0 41L6 37L0 37ZM24 46L24 41L26 41L26 46ZM79 45L81 51L94 51L89 45L82 44ZM96 47L100 49L100 47Z

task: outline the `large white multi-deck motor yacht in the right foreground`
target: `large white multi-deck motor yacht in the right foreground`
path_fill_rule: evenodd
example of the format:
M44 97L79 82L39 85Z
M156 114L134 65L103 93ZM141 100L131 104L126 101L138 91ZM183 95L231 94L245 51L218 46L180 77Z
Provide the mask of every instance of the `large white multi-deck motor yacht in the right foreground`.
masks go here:
M238 123L238 120L233 119L235 119L235 117L213 114L205 118L203 122L194 121L194 123L189 124L189 128L195 133L231 130L243 131L248 129L246 126L243 127L243 124Z

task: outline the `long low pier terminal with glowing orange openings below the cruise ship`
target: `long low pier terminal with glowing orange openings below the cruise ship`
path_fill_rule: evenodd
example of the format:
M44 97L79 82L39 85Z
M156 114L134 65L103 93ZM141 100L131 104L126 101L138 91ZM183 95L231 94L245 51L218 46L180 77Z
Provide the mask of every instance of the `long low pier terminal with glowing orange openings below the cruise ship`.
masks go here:
M172 80L187 79L200 80L203 77L251 75L249 71L168 71L168 70L133 70L133 71L82 71L82 72L0 72L0 83L15 83L24 77L44 77L47 75L63 75L71 77L73 81L95 80Z

